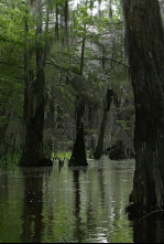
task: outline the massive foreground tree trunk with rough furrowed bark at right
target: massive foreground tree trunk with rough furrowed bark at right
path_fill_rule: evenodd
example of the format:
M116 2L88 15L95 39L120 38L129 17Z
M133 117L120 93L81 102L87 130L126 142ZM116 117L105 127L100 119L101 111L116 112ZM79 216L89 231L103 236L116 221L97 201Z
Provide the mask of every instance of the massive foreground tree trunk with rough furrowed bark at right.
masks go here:
M164 208L164 30L157 0L123 0L135 102L135 211Z

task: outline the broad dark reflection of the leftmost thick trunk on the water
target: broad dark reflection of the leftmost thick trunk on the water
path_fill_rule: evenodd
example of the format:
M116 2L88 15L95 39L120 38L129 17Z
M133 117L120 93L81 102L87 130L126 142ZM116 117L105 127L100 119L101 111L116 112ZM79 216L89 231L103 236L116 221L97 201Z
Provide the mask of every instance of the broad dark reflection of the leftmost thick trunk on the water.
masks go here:
M43 222L43 179L48 172L23 169L24 201L22 214L22 243L41 243Z

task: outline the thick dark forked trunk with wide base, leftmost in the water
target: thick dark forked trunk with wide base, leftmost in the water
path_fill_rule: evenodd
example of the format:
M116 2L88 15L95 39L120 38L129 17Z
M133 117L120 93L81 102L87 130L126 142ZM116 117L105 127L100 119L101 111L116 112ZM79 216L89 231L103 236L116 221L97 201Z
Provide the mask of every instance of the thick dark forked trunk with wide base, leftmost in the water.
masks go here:
M42 4L37 0L37 25L36 39L40 45L40 38L42 34ZM29 32L28 20L25 21L25 31ZM26 40L25 40L26 41ZM40 167L52 166L51 160L44 159L43 156L43 128L44 128L44 89L45 89L45 74L44 61L45 53L42 47L36 47L36 81L33 89L29 78L29 50L24 51L24 120L25 120L25 141L21 158L21 166ZM34 98L31 98L34 97Z

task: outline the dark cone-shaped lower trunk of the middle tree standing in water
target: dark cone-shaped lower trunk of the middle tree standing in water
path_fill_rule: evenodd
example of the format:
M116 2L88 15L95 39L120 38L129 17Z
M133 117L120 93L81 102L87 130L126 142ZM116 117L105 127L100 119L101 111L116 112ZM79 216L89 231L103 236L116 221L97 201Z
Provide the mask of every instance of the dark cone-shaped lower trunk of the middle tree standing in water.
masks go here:
M74 150L69 161L69 166L88 166L86 147L85 147L84 124L81 121L84 113L85 113L85 103L84 100L78 100L76 141L74 145Z

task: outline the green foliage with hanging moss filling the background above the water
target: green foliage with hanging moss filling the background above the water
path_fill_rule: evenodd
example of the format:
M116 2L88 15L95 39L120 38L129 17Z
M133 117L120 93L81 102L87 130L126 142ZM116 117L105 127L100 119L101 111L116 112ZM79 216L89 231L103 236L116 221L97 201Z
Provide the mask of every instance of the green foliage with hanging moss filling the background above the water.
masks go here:
M98 124L107 88L114 89L119 98L132 98L127 70L121 65L127 61L122 51L120 1L112 1L112 19L109 18L109 1L103 1L101 11L98 9L99 1L80 0L76 6L72 0L68 1L68 10L65 0L46 1L42 7L43 30L40 36L36 36L35 1L30 2L31 4L28 0L0 1L0 127L20 125L22 128L24 53L28 54L32 85L36 79L35 54L40 50L46 56L44 141L46 144L46 140L53 138L54 145L61 147L58 145L65 144L69 150L76 127L77 97L83 97L87 106L98 107ZM102 62L102 56L109 60ZM133 106L124 109L133 110ZM86 113L86 124L87 119ZM122 128L130 126L125 123L119 125ZM22 131L20 129L20 138ZM86 129L86 136L89 134ZM66 139L61 141L61 135ZM98 126L94 135L94 138L98 137Z

